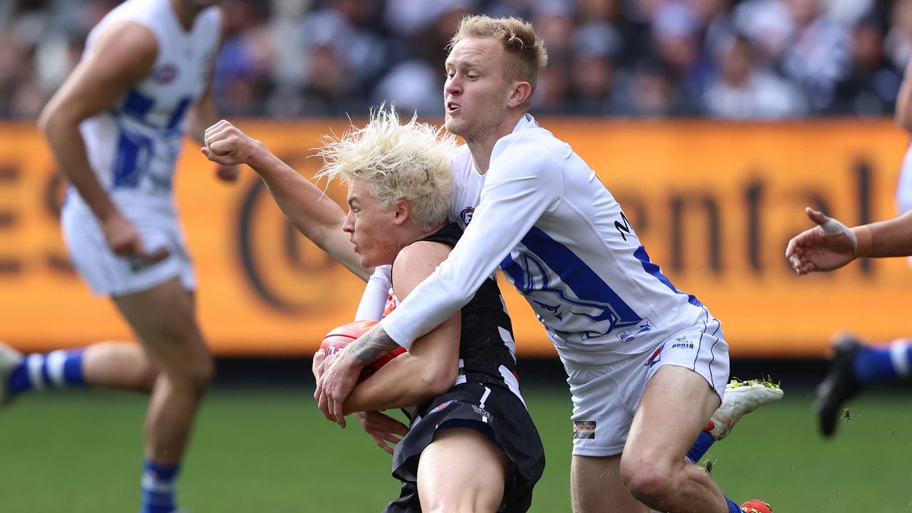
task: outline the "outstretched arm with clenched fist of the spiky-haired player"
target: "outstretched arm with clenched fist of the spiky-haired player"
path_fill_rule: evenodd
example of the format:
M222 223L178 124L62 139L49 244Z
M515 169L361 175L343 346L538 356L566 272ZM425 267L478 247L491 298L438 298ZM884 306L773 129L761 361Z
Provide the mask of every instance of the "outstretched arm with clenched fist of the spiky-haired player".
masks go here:
M362 267L355 246L342 231L345 212L323 191L298 174L260 141L221 120L205 132L202 153L223 165L247 164L260 175L285 217L316 246L367 281L372 268Z

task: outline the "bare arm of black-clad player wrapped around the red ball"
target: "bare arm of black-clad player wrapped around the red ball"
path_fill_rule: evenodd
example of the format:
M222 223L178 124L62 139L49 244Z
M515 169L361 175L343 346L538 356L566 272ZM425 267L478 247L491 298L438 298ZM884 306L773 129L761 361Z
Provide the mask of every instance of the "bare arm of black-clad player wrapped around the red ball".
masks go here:
M448 246L432 242L418 242L403 249L393 266L396 297L408 297L449 253ZM460 335L461 314L456 312L415 340L409 352L359 383L345 402L344 414L415 406L450 390L459 369Z

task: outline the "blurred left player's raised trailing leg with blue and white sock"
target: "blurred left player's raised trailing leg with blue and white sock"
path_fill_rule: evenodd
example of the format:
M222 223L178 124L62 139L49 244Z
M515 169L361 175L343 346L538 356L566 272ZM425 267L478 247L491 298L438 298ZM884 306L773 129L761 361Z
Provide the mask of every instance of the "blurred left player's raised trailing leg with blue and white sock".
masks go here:
M0 404L29 390L100 386L149 393L157 365L142 346L104 341L85 348L21 355L0 342Z

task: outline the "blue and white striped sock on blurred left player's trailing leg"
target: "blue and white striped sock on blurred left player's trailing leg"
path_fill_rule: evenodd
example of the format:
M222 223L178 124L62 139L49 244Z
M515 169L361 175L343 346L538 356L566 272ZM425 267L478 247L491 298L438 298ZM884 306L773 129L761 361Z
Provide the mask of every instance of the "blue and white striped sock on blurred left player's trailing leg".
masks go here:
M29 354L10 375L9 390L20 393L32 389L66 388L67 385L84 384L83 351L85 350Z

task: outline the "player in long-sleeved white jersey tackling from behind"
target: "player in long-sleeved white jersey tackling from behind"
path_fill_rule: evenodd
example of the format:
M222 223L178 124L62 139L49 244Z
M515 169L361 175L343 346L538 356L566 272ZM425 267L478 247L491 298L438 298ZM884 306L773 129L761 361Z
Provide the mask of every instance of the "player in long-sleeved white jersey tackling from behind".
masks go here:
M444 95L447 129L467 142L453 206L468 227L398 309L327 357L320 408L344 425L360 369L408 349L500 266L567 368L575 511L770 511L761 501L739 507L686 461L698 435L711 443L701 430L728 379L720 322L671 286L595 173L526 113L545 62L543 42L520 20L462 21Z

